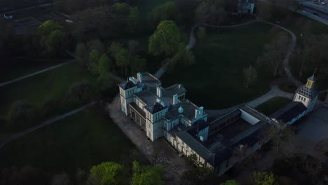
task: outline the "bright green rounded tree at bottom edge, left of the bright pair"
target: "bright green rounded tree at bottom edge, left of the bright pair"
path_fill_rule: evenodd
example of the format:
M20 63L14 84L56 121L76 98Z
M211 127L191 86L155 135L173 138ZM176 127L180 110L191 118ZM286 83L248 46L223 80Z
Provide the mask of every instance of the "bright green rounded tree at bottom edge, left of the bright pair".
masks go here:
M127 170L123 165L113 162L93 166L88 177L90 185L123 185L128 184Z

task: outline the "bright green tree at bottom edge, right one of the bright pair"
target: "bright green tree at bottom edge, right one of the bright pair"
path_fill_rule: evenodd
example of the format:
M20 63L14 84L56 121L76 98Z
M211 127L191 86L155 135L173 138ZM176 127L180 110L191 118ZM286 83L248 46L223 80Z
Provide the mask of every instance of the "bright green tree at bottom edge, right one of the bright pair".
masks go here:
M160 165L142 166L137 161L133 162L132 185L161 185L164 184L161 179L165 172L164 167Z

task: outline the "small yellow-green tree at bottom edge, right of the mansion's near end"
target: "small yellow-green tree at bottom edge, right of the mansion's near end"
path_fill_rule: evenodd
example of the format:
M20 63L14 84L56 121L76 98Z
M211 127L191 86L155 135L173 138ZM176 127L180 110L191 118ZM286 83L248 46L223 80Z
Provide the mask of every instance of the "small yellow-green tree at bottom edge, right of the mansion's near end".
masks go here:
M252 172L250 179L250 185L274 185L275 175L270 172Z

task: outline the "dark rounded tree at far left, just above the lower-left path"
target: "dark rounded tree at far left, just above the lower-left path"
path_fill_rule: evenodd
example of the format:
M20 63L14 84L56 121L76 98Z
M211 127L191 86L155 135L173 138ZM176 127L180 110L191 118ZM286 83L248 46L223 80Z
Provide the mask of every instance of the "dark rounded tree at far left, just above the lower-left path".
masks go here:
M13 128L15 125L20 123L27 124L28 120L34 115L34 107L32 104L25 102L24 100L17 100L11 104L9 110L9 128Z

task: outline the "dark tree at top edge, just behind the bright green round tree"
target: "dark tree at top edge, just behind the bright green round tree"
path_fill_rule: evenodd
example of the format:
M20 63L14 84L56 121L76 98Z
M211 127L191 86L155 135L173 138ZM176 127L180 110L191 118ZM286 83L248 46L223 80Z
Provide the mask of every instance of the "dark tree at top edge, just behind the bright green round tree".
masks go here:
M176 20L178 13L177 4L175 4L174 1L168 1L164 4L158 5L153 11L151 11L153 27L156 27L158 23L164 20Z

